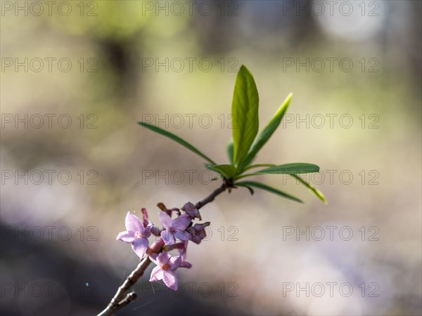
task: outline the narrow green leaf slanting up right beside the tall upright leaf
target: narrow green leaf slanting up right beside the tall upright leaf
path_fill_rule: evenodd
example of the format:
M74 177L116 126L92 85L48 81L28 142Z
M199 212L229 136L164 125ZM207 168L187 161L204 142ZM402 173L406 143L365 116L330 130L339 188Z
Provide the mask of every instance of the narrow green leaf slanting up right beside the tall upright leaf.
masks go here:
M280 105L279 110L277 110L271 121L269 121L269 124L265 126L265 128L261 131L260 135L255 138L248 152L248 156L245 159L245 166L248 166L253 161L253 159L255 159L255 156L260 151L262 146L267 143L267 140L269 140L274 131L276 131L277 127L279 127L281 119L283 119L283 116L286 113L288 106L290 105L290 100L292 96L293 93L290 93L287 96L286 100L284 100L284 102Z

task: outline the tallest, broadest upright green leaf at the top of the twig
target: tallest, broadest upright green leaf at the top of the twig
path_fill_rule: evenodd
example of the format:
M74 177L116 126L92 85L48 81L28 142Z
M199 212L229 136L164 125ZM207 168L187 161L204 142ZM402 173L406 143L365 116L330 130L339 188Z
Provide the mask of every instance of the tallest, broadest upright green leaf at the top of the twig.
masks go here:
M233 123L234 164L242 165L258 133L257 86L248 68L242 65L236 77L231 119Z

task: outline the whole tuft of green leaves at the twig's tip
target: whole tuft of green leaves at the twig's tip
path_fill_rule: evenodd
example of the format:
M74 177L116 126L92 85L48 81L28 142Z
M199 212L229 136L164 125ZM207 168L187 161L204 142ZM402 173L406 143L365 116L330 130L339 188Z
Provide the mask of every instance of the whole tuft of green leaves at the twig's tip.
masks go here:
M179 136L170 133L157 126L139 121L141 126L151 129L156 133L171 138L180 145L195 152L200 157L207 161L205 166L207 169L215 171L219 177L223 178L229 187L245 187L251 194L254 193L253 188L266 190L281 197L292 199L296 202L302 202L301 199L293 197L286 192L283 192L274 187L265 185L252 180L243 180L244 178L259 176L262 174L288 174L298 179L302 185L305 185L311 192L316 195L322 202L326 203L324 195L315 187L300 178L298 174L319 172L319 166L316 164L297 162L293 164L253 164L258 152L267 143L269 138L274 134L279 127L284 114L288 110L290 100L293 94L290 93L286 100L281 103L280 107L274 113L274 116L269 121L267 126L259 130L259 95L255 79L244 65L238 71L236 77L236 84L234 86L233 102L231 104L232 117L232 140L227 146L227 155L229 157L229 164L217 164L214 160L207 157L207 155L200 152L196 147L188 143L186 140L179 138ZM251 171L251 169L258 169L258 171Z

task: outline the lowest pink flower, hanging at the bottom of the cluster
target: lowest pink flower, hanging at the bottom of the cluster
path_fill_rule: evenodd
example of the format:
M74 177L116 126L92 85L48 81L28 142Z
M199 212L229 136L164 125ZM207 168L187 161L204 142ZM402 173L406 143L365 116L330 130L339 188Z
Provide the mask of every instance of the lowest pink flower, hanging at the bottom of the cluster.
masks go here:
M177 276L174 270L177 268L191 268L191 263L184 262L184 257L172 257L167 252L162 252L155 259L151 260L157 265L151 272L150 281L162 279L164 284L170 289L177 291Z

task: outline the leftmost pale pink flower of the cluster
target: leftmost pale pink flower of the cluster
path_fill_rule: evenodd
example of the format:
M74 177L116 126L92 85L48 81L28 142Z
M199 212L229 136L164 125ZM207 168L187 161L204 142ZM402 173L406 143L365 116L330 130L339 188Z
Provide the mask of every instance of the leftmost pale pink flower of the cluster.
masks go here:
M134 249L135 253L139 258L143 258L146 249L148 249L148 237L151 236L153 223L149 222L148 225L144 226L142 220L127 212L124 224L126 231L120 232L116 239L132 244L132 249Z

